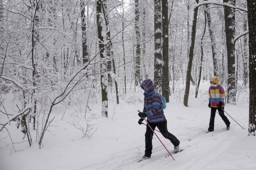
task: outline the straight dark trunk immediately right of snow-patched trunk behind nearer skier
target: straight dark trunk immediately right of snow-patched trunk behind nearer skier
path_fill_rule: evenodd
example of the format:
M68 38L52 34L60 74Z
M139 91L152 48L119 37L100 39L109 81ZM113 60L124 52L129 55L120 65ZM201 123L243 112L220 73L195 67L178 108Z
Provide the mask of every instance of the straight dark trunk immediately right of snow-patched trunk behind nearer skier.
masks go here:
M168 0L162 0L162 20L163 20L163 76L162 93L166 102L169 102L169 22L168 22Z

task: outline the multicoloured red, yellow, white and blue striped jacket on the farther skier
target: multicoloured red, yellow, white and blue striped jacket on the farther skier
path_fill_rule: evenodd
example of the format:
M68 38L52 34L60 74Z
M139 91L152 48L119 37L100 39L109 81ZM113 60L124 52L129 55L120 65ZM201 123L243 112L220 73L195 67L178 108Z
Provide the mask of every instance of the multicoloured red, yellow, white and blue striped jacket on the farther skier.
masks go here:
M220 101L222 102L221 106L224 107L225 98L224 88L220 84L217 87L209 87L209 102L211 102L211 107L217 107Z

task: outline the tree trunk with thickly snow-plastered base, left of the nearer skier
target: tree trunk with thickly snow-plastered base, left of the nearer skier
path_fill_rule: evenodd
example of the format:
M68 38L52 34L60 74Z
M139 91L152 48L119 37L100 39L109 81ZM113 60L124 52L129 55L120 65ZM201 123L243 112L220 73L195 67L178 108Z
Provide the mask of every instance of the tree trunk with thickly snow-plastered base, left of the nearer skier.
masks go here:
M104 61L105 54L104 54L104 39L102 36L102 21L104 20L102 12L102 0L97 0L96 5L97 10L97 28L98 28L98 38L99 38L99 49L100 49L100 70L101 70L101 76L100 76L100 84L101 84L101 97L102 97L102 103L101 103L101 115L108 117L108 75L107 75L107 64L106 61Z

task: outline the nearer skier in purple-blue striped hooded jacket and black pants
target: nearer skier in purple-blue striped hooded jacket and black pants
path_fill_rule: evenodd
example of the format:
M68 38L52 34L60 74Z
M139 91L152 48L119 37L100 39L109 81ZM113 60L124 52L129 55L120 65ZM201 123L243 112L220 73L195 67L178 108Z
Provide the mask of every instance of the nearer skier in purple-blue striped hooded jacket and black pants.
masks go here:
M161 134L171 141L174 145L174 152L179 151L180 141L172 135L167 130L167 120L164 116L164 111L162 108L161 97L155 91L154 84L150 79L144 80L140 87L144 90L144 108L143 112L140 112L138 115L140 120L138 123L141 125L143 118L147 117L147 128L145 133L145 155L140 158L139 161L148 159L152 154L152 138L154 132L151 130L155 130L157 127ZM151 126L151 128L148 126Z

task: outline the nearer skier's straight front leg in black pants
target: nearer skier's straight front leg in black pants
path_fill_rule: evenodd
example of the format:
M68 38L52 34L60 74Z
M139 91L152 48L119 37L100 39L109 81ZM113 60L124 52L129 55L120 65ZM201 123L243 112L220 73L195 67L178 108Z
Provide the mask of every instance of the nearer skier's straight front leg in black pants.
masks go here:
M153 130L155 130L156 125L154 123L148 122L148 124L151 126L151 128L153 128ZM145 156L146 157L151 157L152 154L152 138L154 135L154 132L151 130L151 128L148 126L147 124L147 128L146 128L146 133L145 133Z

